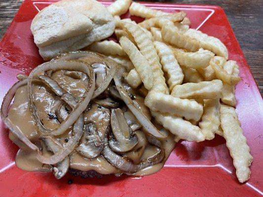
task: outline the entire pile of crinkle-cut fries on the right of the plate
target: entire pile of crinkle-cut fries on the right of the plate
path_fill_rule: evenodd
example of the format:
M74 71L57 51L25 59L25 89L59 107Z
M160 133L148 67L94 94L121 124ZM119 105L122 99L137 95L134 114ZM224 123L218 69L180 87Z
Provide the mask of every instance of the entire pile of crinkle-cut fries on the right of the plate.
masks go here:
M250 148L235 112L234 87L240 81L235 61L218 39L189 28L183 11L166 13L131 0L116 0L108 9L115 19L119 44L100 41L87 50L112 58L128 73L127 83L148 90L145 105L175 140L200 142L222 135L238 180L250 177ZM137 24L120 19L146 18ZM165 76L165 77L164 77Z

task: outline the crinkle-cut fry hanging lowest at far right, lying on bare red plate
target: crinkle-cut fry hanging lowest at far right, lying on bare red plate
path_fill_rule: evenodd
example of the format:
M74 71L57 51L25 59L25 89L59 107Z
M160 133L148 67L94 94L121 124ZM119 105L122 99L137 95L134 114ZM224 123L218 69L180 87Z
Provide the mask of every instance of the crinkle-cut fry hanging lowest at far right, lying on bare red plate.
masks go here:
M247 139L243 134L238 121L235 108L221 105L221 127L223 129L226 146L233 158L236 168L236 176L240 183L247 181L250 177L249 166L253 161Z

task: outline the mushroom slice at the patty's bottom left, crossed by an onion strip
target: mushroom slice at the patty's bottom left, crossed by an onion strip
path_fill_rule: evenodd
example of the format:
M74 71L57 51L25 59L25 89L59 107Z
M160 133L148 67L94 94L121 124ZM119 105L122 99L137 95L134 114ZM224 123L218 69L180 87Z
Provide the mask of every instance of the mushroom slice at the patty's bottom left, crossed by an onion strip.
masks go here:
M57 153L62 148L62 144L58 140L54 140L51 136L45 136L42 138L45 143L47 150L51 150L53 153ZM61 179L69 170L70 159L69 157L64 158L61 162L53 167L53 173L56 179Z

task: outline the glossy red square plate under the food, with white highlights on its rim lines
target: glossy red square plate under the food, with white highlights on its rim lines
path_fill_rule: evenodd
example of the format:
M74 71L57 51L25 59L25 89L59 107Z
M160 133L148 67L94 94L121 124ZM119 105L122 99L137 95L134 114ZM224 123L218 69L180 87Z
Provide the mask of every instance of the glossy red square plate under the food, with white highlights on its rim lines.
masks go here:
M39 10L54 1L25 0L0 42L0 100L17 81L16 74L29 73L43 62L33 42L30 24ZM109 5L110 1L102 1ZM254 161L251 177L239 184L232 159L223 137L211 141L190 143L180 141L165 167L150 176L106 176L102 179L81 179L66 175L56 180L51 173L20 170L14 163L17 147L8 138L8 130L0 122L0 196L9 197L256 197L263 193L263 101L250 68L221 7L143 3L166 12L187 12L191 27L221 39L229 59L240 66L242 81L236 87L239 120L248 139ZM125 14L124 17L130 17ZM138 17L131 17L140 21ZM68 181L73 183L69 184Z

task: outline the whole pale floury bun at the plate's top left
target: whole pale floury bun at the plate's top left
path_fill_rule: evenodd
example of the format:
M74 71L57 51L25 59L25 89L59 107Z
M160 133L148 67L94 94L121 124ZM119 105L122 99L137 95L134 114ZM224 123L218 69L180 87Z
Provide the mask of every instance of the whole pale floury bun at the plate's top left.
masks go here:
M113 16L96 0L58 1L41 10L31 24L44 60L109 37L114 28Z

